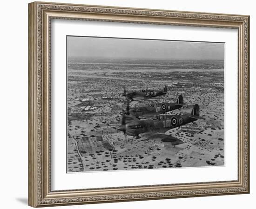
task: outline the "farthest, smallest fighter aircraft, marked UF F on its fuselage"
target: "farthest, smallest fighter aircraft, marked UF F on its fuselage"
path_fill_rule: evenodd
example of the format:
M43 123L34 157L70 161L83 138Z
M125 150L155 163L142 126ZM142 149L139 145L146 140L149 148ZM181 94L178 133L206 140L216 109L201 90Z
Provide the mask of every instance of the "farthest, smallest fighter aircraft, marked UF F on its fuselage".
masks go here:
M122 96L132 100L132 101L144 101L157 96L164 96L167 94L167 86L165 85L163 90L141 90L141 91L126 91L124 89Z

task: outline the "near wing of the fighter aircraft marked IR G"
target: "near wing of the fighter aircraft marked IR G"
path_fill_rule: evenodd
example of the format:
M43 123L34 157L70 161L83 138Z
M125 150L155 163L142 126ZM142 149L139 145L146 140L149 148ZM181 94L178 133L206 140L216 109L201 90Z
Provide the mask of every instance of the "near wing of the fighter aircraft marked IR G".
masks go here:
M172 145L183 144L182 140L166 135L163 133L141 133L139 135L142 140L161 140L162 142L171 143Z

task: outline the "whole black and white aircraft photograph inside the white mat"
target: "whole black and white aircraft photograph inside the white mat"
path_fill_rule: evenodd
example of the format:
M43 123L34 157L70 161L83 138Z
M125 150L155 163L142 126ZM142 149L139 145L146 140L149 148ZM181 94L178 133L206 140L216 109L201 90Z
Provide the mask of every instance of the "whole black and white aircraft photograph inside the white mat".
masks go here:
M223 166L224 45L67 36L67 172Z

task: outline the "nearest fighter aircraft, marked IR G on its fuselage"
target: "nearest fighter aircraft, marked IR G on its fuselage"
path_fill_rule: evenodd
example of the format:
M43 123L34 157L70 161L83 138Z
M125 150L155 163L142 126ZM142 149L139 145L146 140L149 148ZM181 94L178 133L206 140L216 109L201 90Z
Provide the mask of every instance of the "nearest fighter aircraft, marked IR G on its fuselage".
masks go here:
M136 139L161 140L162 142L171 143L175 147L175 145L183 144L183 142L165 134L165 132L198 119L204 119L200 116L199 111L199 105L195 104L191 113L184 115L165 115L159 120L135 119L128 122L125 121L125 115L123 114L122 123L117 129L123 131L125 135L133 136Z

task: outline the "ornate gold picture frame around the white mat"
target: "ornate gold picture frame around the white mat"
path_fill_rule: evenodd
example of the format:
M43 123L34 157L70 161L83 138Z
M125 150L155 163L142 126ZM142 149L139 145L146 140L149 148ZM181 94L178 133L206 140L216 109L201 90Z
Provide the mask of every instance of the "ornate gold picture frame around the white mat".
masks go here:
M237 180L52 190L50 31L54 19L237 29ZM43 207L246 193L249 193L249 16L46 2L28 4L28 205Z

